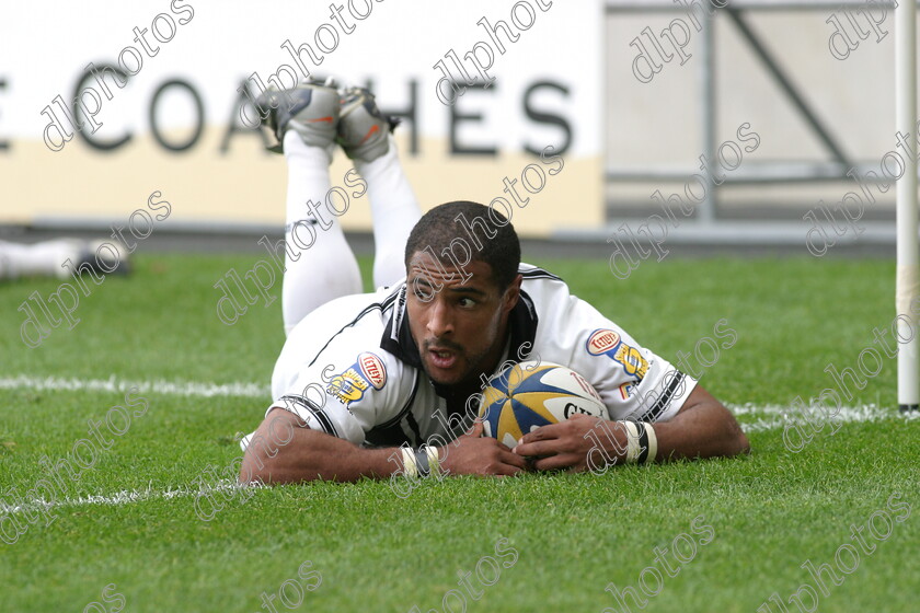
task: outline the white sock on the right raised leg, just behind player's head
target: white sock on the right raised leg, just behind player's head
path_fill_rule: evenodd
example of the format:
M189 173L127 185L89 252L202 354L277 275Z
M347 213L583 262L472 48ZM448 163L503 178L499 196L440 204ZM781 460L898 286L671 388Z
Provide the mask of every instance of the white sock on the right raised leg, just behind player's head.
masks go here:
M367 182L373 217L373 285L392 286L405 277L405 242L422 210L403 174L392 136L386 154L372 162L356 160L355 169Z

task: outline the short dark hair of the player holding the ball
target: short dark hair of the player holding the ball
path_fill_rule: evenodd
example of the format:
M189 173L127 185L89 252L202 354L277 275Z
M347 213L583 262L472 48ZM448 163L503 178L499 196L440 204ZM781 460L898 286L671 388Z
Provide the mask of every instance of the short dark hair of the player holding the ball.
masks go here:
M453 248L458 240L469 250L471 262L492 267L499 290L511 285L520 265L520 241L514 225L501 212L469 200L445 203L422 216L405 243L406 270L412 256L429 247L438 262L457 266Z

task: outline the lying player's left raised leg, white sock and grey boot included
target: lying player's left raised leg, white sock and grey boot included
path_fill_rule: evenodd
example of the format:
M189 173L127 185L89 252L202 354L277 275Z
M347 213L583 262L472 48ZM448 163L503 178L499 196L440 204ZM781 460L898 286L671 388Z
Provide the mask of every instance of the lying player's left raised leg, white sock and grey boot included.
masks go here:
M281 311L285 332L290 332L317 307L361 291L358 263L337 218L326 208L340 99L333 88L304 83L266 92L260 105L276 107L268 124L288 166Z

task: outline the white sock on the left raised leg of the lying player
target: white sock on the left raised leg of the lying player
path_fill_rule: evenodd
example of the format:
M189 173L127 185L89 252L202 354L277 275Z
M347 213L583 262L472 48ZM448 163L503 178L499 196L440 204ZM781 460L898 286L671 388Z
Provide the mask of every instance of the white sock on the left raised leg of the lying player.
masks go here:
M288 189L285 227L287 270L281 290L281 311L285 332L289 333L317 307L342 296L359 293L361 274L338 219L325 204L332 187L329 152L306 144L294 130L285 135L284 148ZM308 201L313 205L308 207ZM311 213L310 208L315 212ZM291 254L297 259L292 259Z

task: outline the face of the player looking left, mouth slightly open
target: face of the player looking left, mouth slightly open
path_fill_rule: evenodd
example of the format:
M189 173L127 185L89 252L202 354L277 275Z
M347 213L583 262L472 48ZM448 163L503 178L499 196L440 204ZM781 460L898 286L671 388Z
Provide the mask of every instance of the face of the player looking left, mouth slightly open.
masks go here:
M492 266L484 262L457 269L416 252L406 285L410 329L428 377L442 385L458 385L491 373L505 346L519 278L499 291Z

